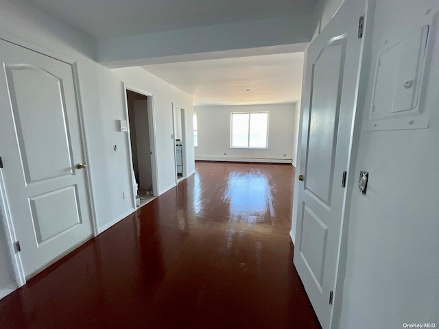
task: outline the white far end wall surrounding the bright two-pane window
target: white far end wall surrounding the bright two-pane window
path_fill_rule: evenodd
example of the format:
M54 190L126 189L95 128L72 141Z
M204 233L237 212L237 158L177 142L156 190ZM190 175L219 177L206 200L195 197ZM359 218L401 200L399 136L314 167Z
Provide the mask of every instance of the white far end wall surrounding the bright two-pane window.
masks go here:
M268 149L230 148L230 113L268 111ZM292 163L294 142L293 103L244 106L195 106L198 118L198 160L265 159ZM226 155L224 155L226 153ZM286 154L287 156L283 156Z

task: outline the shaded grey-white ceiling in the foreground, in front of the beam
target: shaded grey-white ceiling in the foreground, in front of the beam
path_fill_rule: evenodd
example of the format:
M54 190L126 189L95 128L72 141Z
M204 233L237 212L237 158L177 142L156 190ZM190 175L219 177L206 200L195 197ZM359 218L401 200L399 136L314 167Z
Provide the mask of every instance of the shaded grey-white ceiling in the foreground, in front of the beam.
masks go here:
M315 0L27 0L96 38L311 12Z

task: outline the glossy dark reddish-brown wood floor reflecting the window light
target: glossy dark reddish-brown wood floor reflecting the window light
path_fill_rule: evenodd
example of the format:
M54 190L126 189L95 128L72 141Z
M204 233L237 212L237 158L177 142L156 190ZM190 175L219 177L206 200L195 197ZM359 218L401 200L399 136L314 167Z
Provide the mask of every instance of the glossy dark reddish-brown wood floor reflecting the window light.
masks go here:
M0 301L0 328L320 328L292 265L294 167L197 172Z

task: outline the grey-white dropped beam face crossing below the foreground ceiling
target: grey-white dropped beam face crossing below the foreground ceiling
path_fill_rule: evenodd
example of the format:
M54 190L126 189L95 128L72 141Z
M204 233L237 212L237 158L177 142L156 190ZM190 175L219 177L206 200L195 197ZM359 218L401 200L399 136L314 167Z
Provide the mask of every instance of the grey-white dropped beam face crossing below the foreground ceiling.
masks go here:
M99 62L112 68L206 60L211 58L213 53L219 56L216 58L223 58L224 55L221 53L228 53L230 50L263 49L309 42L315 20L315 16L310 13L117 38L99 38L97 52ZM127 45L130 47L126 47Z

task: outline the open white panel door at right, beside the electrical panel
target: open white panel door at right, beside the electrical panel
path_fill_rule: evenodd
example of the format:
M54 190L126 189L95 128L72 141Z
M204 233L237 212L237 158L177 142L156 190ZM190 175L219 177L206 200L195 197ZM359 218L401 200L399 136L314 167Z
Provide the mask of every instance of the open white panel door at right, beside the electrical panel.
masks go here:
M323 328L331 327L356 108L365 0L347 0L307 49L294 265ZM301 179L301 178L300 178Z

